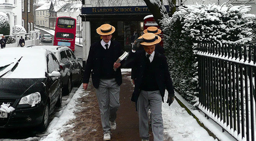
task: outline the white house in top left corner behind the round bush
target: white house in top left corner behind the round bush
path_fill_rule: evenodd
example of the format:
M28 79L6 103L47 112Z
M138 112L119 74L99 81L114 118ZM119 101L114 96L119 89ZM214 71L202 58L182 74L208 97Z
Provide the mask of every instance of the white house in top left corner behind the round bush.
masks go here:
M5 13L10 21L10 34L14 25L22 24L21 5L22 0L0 0L0 11Z

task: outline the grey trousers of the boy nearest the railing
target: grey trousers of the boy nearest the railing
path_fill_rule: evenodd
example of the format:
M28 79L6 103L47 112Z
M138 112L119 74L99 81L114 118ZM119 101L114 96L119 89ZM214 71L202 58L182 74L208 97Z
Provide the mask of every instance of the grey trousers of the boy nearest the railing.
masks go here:
M162 96L160 91L143 91L139 94L137 109L139 115L139 136L149 139L147 112L151 111L154 141L164 141L164 125L162 119Z

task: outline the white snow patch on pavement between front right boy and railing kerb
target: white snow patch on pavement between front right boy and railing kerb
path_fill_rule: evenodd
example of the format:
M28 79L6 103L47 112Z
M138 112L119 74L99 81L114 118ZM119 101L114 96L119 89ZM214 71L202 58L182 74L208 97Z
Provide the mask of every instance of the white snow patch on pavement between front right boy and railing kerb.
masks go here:
M168 92L165 91L165 101L167 97ZM169 135L173 141L214 141L214 138L209 136L207 131L176 100L171 106L162 104L162 117L164 134Z

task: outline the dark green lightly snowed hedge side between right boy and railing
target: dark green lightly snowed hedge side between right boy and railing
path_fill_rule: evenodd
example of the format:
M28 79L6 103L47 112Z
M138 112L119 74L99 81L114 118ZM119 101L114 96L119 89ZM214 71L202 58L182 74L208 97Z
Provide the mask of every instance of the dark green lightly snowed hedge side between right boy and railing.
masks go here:
M170 19L165 20L167 20L163 22L165 56L173 85L183 98L192 102L198 91L193 42L188 35L181 33L180 20L174 22L168 22Z

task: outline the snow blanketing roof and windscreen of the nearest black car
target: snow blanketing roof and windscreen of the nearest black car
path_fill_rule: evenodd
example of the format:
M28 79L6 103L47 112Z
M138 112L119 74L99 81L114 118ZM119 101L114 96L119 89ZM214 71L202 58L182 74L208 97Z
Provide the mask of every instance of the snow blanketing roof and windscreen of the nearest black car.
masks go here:
M14 47L1 49L0 68L3 66L13 66L20 60L17 64L18 66L13 71L10 70L14 67L0 69L0 76L7 69L7 73L1 78L44 78L45 72L47 72L46 54L47 51L41 48Z

